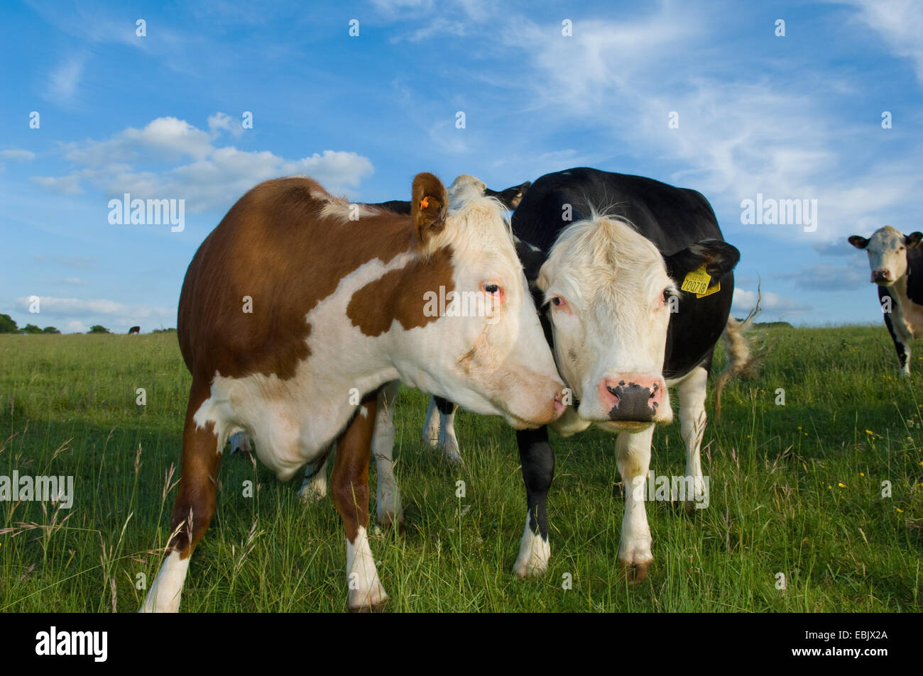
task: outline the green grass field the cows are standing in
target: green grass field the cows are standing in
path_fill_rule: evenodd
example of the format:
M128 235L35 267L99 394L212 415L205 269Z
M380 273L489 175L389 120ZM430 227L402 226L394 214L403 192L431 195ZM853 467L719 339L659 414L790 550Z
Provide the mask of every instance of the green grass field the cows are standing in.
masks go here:
M612 436L553 437L551 563L545 578L520 580L511 568L525 498L512 431L460 413L467 465L456 468L420 444L426 398L403 389L396 473L407 529L371 542L388 610L920 611L923 361L914 358L918 377L899 378L884 326L757 333L770 345L759 379L728 385L723 420L705 432L711 504L692 516L648 504L654 562L638 585L616 561L624 500ZM189 383L175 334L0 336L0 475L76 484L69 510L0 502L0 611L138 610L169 535ZM678 424L655 433L658 475L682 474L684 458ZM244 497L245 480L255 497ZM184 611L345 610L340 518L330 498L300 504L299 485L224 461Z

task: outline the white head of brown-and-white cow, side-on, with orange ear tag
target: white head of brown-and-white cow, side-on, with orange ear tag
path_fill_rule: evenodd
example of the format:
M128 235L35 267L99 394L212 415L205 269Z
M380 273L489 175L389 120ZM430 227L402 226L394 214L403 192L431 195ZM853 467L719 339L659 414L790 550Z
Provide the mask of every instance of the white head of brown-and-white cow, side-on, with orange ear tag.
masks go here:
M414 179L411 219L423 261L448 261L450 277L423 290L428 338L399 364L402 379L518 429L557 419L560 381L505 208L485 185L460 176L447 191L432 174Z

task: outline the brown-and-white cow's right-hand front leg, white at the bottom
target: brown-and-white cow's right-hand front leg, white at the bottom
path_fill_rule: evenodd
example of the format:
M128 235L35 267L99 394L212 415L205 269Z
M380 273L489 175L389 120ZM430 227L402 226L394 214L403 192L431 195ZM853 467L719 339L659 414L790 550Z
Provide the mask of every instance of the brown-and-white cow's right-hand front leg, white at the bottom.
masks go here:
M375 559L368 547L368 462L378 409L378 391L363 398L337 440L330 478L333 503L346 530L346 579L350 611L369 611L388 599L378 582Z

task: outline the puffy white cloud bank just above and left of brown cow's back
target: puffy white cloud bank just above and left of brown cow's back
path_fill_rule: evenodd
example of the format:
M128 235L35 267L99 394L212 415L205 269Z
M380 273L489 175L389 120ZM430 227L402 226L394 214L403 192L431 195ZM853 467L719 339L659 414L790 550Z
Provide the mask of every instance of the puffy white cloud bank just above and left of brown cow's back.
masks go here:
M80 169L61 177L33 177L55 192L73 194L86 181L106 196L130 193L142 199L183 198L190 212L230 208L234 200L261 181L305 174L333 194L348 193L375 168L366 157L342 150L324 150L288 160L269 150L240 150L218 146L221 130L233 127L231 118L216 113L209 118L211 133L175 117L161 117L143 129L129 127L104 141L88 140L65 146L66 159ZM136 169L144 160L186 160L172 169Z

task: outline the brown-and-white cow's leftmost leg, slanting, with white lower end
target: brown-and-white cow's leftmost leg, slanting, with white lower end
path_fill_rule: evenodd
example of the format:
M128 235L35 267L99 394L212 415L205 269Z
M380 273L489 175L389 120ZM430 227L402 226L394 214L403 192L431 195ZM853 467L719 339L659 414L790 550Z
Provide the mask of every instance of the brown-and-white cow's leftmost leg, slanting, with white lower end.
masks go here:
M189 557L215 513L215 482L221 467L223 439L209 421L199 427L193 416L209 397L208 385L193 382L183 430L183 470L174 505L172 537L160 573L144 599L144 612L179 611Z

